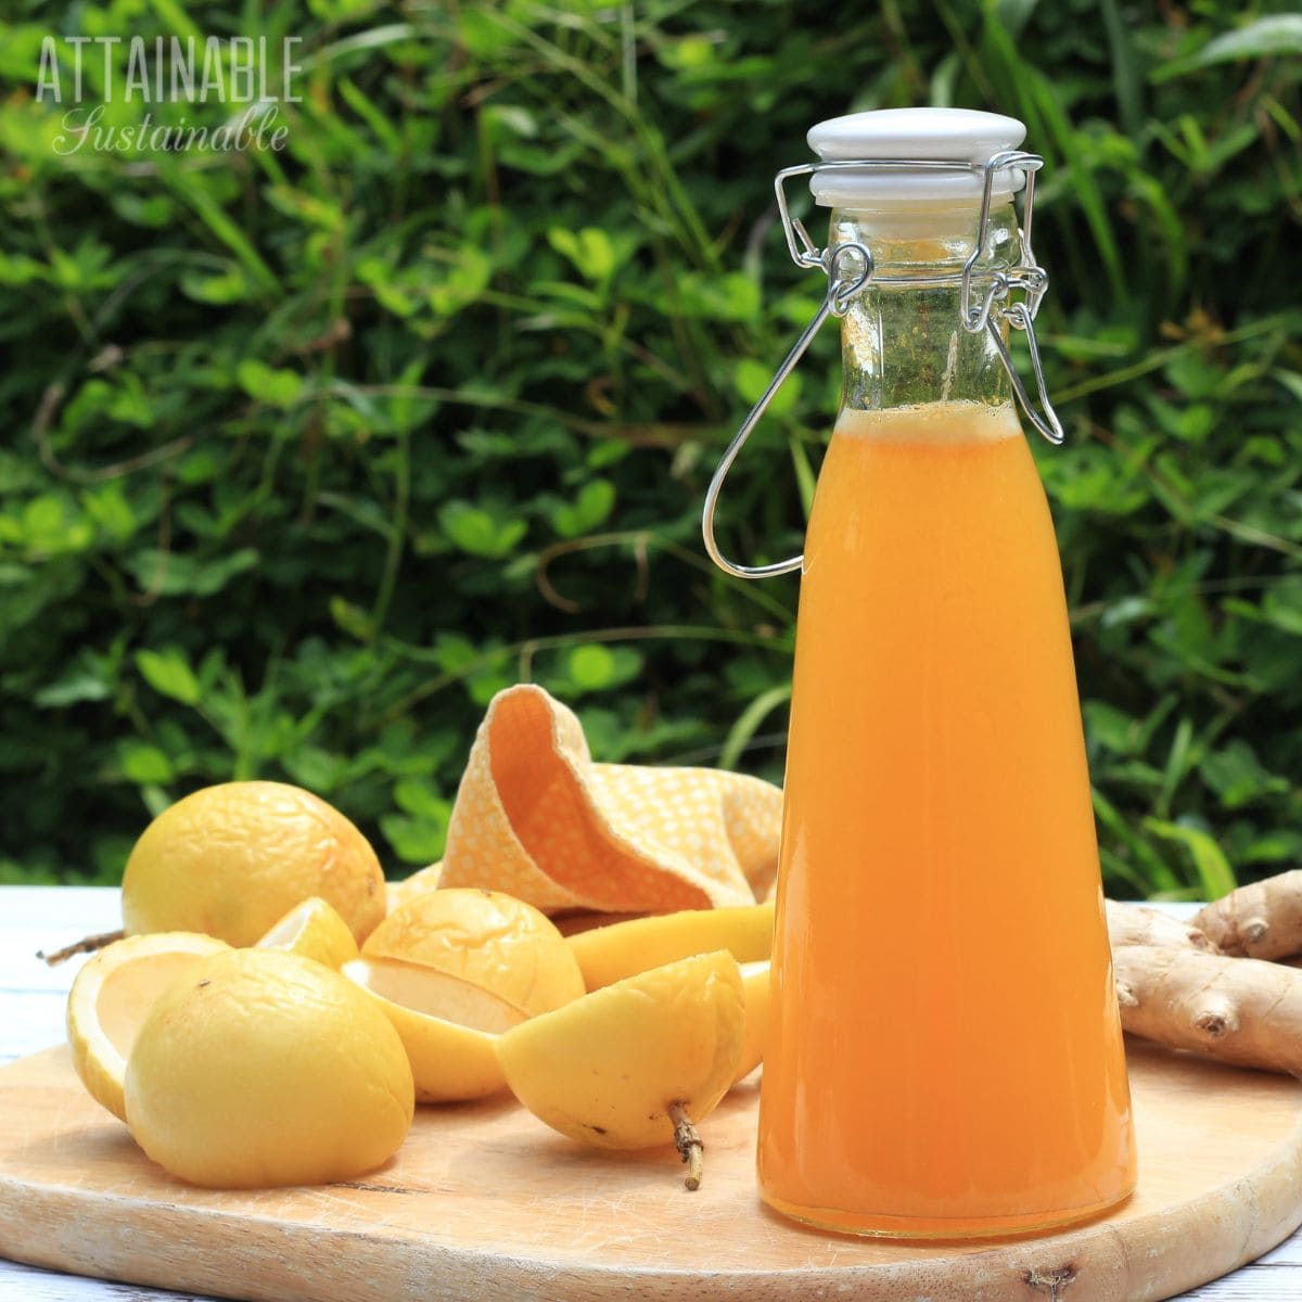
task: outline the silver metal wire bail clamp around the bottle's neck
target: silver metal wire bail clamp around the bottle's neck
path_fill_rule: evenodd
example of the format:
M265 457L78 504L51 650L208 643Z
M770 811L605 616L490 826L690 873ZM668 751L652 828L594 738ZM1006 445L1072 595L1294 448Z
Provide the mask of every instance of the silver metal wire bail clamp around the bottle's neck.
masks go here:
M819 327L828 316L844 316L849 311L850 303L861 294L865 286L872 280L879 285L904 285L913 283L909 276L874 276L871 251L862 243L842 243L835 249L819 249L810 238L809 232L798 217L793 217L786 206L785 182L797 176L811 176L815 172L850 171L863 168L924 168L930 171L948 172L975 172L982 177L980 216L976 223L976 242L963 264L960 275L945 277L943 281L930 281L931 284L958 284L961 286L960 315L962 327L969 333L988 331L995 348L999 352L1004 370L1008 371L1009 381L1013 385L1013 395L1018 405L1026 414L1027 421L1049 443L1057 445L1062 443L1062 423L1059 421L1053 404L1049 401L1048 388L1044 383L1044 367L1040 363L1040 349L1035 339L1034 320L1040 309L1040 299L1048 289L1048 272L1035 260L1031 249L1031 217L1035 204L1035 173L1044 167L1044 159L1038 154L1026 154L1021 150L1008 150L995 154L984 163L956 163L949 159L837 159L828 163L802 163L798 167L783 168L773 177L773 190L777 195L777 212L783 220L783 230L786 234L786 247L792 260L797 267L818 267L827 275L827 294L823 303L814 314L814 319L805 327L803 333L796 341L785 361L779 366L769 385L760 395L759 401L751 408L750 414L741 423L741 428L733 435L732 443L724 449L724 454L706 490L706 504L700 516L700 533L706 543L710 559L721 569L737 578L769 578L773 574L789 574L805 562L802 556L792 556L785 561L776 561L772 565L738 565L728 560L719 551L715 542L715 509L719 505L719 493L724 486L724 479L737 460L738 453L746 445L760 417L768 410L773 395L783 387L786 376L796 368L797 362L805 355ZM1022 225L1018 232L1021 237L1022 260L1016 267L990 272L978 272L976 263L982 250L986 247L986 238L990 233L991 193L995 184L995 174L1000 171L1016 168L1026 174L1026 194L1022 208ZM845 255L849 255L846 258ZM978 284L980 297L976 299ZM1012 299L1014 292L1025 297ZM997 305L997 306L996 306ZM1017 371L1013 355L1004 341L1003 324L1008 323L1013 329L1026 332L1026 342L1031 355L1031 372L1035 376L1036 402L1031 401L1026 392L1026 385Z

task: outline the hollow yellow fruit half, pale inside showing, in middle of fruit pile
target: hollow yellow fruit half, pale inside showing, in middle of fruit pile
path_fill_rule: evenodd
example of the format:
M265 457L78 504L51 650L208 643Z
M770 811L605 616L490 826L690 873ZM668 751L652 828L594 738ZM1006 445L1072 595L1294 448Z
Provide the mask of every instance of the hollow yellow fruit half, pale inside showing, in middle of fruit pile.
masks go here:
M482 986L396 958L355 958L340 969L375 999L398 1032L418 1103L482 1099L506 1085L497 1036L529 1014Z

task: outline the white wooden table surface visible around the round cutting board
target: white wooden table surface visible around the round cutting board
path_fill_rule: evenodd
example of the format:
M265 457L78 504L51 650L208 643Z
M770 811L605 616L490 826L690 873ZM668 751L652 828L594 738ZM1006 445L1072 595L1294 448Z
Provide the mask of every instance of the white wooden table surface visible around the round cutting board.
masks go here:
M57 949L79 936L109 931L120 921L118 893L109 887L0 887L0 1065L64 1039L64 1001L85 960L51 969L35 957L36 950ZM59 1275L0 1259L0 1302L190 1302L194 1297ZM1199 1302L1298 1302L1302 1230L1250 1266L1184 1297Z

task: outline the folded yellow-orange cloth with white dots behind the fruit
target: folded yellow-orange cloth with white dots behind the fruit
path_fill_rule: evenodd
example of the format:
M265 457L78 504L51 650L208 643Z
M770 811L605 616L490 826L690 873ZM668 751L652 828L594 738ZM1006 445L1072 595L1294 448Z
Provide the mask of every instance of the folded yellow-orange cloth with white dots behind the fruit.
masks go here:
M667 911L754 904L777 872L783 793L712 768L596 764L542 687L497 693L448 825L441 887L542 909Z

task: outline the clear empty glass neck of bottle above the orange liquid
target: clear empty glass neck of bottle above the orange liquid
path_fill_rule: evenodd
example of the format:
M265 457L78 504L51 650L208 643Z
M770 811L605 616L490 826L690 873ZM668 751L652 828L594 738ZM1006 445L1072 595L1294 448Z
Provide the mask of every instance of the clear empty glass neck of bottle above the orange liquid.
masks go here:
M831 245L854 241L874 259L872 280L841 320L842 409L1010 400L990 332L962 324L960 280L976 216L975 208L832 214ZM1003 203L990 214L986 247L973 271L973 303L980 302L982 272L1017 260L1017 219L1012 203Z

